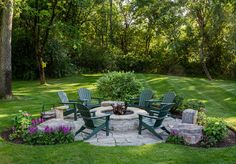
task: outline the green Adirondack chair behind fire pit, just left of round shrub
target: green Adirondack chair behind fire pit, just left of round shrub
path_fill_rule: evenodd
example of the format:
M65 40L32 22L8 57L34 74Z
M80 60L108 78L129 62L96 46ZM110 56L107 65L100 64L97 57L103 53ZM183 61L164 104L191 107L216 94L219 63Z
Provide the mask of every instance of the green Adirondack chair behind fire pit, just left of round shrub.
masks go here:
M92 97L92 93L87 88L80 88L78 90L79 100L83 102L83 105L89 109L101 106L101 98ZM96 103L93 103L95 100Z

